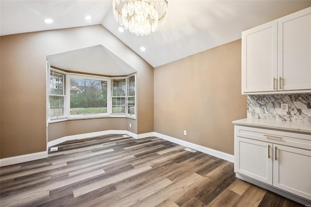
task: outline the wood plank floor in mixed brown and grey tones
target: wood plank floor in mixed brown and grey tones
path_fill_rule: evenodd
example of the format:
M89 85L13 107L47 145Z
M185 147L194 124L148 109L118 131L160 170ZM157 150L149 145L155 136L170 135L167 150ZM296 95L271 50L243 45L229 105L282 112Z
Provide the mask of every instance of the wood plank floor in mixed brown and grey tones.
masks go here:
M233 163L150 137L67 141L0 168L0 206L295 207L235 177Z

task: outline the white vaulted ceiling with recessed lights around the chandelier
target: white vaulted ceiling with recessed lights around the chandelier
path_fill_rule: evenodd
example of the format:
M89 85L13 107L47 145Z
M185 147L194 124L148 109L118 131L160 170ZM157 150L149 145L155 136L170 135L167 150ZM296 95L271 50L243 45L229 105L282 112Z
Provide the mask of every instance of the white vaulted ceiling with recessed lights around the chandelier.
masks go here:
M166 24L147 36L120 33L111 5L111 0L0 0L0 35L102 24L158 67L240 39L242 31L310 7L311 0L168 0ZM54 22L47 25L45 18Z

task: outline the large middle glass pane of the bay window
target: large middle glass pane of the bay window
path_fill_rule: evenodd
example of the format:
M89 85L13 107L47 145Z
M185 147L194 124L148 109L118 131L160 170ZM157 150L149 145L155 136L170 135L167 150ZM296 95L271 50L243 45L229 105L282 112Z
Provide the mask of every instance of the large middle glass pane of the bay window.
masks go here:
M107 113L107 81L70 78L70 115Z

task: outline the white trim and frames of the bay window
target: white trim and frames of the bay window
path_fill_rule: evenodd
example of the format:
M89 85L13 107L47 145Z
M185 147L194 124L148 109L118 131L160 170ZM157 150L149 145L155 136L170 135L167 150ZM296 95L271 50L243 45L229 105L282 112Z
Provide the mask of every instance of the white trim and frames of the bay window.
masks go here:
M128 105L127 105L127 81L128 78L133 76L133 75L129 75L129 76L124 76L124 77L112 77L112 78L108 78L108 77L100 77L100 76L94 76L94 75L87 75L87 74L76 74L76 73L69 73L69 72L64 72L58 69L49 69L49 73L48 73L48 80L50 81L50 73L51 70L58 72L58 73L62 73L65 75L65 95L60 95L60 96L65 96L65 106L64 106L64 110L65 110L65 116L64 117L53 117L50 118L50 104L48 103L48 122L49 123L53 123L53 122L59 122L59 121L67 121L67 120L82 120L82 119L97 119L97 118L108 118L108 117L122 117L122 118L130 118L130 119L136 119L136 113L137 113L137 88L136 88L136 83L137 83L137 79L136 79L136 74L134 74L135 76L135 114L128 114ZM101 81L107 81L107 113L104 114L89 114L89 115L70 115L70 78L82 78L82 79L91 79L91 80L101 80ZM126 96L125 96L125 114L112 114L112 80L113 79L125 79L126 80ZM48 100L50 97L50 82L48 82ZM133 97L133 96L131 96Z

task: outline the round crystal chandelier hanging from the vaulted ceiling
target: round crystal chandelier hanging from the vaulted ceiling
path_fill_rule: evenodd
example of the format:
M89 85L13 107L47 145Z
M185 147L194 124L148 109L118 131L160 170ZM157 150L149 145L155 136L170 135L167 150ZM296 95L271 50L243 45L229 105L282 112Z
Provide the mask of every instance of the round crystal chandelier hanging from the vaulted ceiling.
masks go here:
M112 7L117 22L135 35L158 31L167 17L167 0L112 0Z

